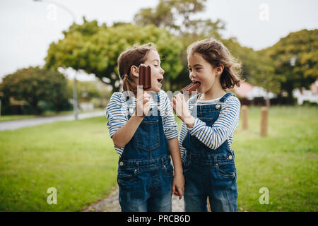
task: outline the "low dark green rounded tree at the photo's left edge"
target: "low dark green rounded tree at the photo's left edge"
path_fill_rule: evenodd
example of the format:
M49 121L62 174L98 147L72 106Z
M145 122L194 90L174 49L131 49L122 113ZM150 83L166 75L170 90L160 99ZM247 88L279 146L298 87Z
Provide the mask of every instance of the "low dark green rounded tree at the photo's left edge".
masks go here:
M25 100L33 107L35 114L40 114L38 103L40 100L52 102L59 111L66 98L66 78L54 70L40 69L30 66L8 74L1 84L3 95L15 100Z

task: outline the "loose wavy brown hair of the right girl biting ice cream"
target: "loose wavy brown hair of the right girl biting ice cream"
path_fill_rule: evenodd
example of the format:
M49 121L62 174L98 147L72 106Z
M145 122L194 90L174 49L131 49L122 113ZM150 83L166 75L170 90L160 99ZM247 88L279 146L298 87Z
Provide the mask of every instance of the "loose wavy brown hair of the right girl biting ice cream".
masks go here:
M220 84L223 90L232 89L234 85L240 86L241 64L232 57L228 48L221 42L213 39L206 39L192 43L187 49L187 56L199 53L213 67L224 66L220 76Z

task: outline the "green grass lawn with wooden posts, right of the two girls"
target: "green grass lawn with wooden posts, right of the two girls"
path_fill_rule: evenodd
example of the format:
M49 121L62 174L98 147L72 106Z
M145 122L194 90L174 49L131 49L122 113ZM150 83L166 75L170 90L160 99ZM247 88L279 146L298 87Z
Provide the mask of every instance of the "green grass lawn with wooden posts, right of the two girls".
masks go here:
M318 210L318 108L271 107L269 136L259 136L260 108L249 109L249 130L241 124L232 148L237 165L240 211ZM269 189L261 205L259 189Z

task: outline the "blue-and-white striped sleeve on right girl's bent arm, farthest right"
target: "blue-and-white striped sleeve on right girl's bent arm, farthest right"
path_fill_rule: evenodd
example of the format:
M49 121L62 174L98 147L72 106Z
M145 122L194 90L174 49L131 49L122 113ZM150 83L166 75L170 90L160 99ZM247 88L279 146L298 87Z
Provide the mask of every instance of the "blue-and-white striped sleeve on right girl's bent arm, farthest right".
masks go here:
M215 150L220 147L235 131L240 118L240 100L228 97L220 109L218 119L212 126L196 118L190 134L196 136L208 148Z

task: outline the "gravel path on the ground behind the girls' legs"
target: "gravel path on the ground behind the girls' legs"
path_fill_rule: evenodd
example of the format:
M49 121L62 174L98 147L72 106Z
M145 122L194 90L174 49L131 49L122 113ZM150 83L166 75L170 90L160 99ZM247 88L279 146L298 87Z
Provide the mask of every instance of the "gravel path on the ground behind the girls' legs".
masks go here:
M96 203L93 203L83 212L120 212L121 208L118 202L118 186L115 187L112 193ZM183 198L179 200L179 196L172 196L172 212L184 212Z

